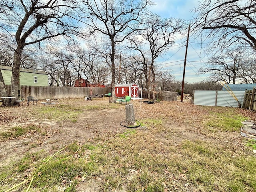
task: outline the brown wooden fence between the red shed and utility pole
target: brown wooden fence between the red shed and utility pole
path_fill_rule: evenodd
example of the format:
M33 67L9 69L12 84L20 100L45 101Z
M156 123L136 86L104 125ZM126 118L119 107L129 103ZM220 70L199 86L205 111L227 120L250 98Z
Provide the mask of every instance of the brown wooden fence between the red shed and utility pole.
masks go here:
M140 92L141 95L141 92ZM163 101L177 101L177 92L170 92L170 91L158 91L156 92L156 99L160 99ZM142 98L147 99L148 98L148 92L142 91ZM153 92L150 91L150 98L153 98Z

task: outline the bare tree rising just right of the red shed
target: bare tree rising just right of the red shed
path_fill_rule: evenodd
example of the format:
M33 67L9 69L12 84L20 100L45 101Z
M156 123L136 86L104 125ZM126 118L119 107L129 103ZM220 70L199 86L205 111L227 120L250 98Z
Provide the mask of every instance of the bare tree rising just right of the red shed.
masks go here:
M139 31L139 35L142 37L141 41L134 41L134 44L145 43L148 44L148 54L150 57L150 66L148 73L148 87L150 86L150 79L152 80L153 88L153 100L155 96L155 61L161 55L164 54L170 46L174 44L175 35L182 33L184 26L183 20L175 18L164 18L162 19L157 14L151 14L144 25L144 30ZM144 46L145 47L145 46ZM134 49L138 50L139 46L134 46ZM140 52L141 53L141 52ZM152 75L152 77L151 77ZM148 89L148 98L150 98L150 92Z

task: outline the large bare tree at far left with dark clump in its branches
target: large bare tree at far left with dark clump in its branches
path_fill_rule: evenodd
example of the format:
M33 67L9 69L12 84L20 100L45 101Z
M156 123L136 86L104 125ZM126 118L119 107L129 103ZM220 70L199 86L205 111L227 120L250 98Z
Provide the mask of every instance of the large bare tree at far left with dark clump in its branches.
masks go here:
M0 2L0 30L15 39L16 44L11 96L18 97L20 90L20 66L24 47L57 36L76 34L77 28L68 19L74 7L73 0L2 0Z

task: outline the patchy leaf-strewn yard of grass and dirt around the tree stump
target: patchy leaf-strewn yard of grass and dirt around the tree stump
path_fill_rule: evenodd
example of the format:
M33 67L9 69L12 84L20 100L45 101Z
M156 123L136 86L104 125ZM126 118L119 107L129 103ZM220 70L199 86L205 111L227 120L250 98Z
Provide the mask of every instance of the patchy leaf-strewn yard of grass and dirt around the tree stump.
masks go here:
M38 103L0 107L0 192L256 191L255 112L132 100L129 129L108 98Z

